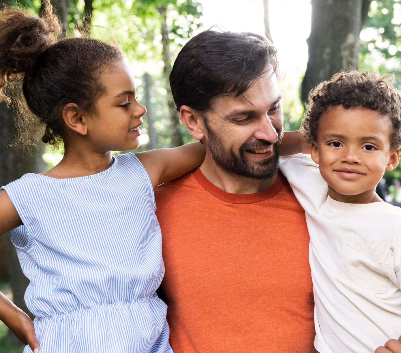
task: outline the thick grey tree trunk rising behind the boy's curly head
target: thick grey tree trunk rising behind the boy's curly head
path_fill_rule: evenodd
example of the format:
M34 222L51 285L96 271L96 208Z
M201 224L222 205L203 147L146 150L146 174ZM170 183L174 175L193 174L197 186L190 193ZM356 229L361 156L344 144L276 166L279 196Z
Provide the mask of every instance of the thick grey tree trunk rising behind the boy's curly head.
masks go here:
M340 70L358 69L359 34L370 0L312 0L308 65L302 100L312 87Z

